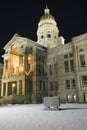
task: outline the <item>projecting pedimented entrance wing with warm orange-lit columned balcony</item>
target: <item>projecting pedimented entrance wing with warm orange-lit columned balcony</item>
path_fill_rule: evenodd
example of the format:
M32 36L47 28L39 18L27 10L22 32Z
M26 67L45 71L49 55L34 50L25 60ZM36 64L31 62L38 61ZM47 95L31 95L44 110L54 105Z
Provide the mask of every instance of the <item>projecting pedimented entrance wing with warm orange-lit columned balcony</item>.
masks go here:
M15 34L4 49L1 96L13 95L17 103L42 102L42 96L47 95L46 48Z

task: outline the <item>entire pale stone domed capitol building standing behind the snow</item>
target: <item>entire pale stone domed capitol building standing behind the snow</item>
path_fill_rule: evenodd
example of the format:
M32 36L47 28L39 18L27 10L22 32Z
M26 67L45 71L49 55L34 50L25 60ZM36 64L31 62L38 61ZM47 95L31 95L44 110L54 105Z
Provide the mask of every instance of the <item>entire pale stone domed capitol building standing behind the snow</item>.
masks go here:
M60 96L62 103L87 102L87 33L65 44L48 7L37 28L37 42L15 34L4 47L1 98L41 103Z

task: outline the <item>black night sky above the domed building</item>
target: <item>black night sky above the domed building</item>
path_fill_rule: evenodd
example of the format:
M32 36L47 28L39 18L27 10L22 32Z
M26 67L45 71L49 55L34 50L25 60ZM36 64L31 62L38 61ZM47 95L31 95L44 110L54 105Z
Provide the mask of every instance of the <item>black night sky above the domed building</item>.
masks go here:
M86 0L2 0L0 1L0 62L3 47L15 33L36 41L38 22L48 5L60 35L66 42L87 32Z

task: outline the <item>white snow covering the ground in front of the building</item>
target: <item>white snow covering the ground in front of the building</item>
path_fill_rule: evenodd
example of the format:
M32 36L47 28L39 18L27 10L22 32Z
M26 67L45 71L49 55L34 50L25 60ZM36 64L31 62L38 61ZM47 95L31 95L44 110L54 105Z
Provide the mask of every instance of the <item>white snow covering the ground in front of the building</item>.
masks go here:
M62 104L44 110L43 104L0 107L0 130L87 130L87 104Z

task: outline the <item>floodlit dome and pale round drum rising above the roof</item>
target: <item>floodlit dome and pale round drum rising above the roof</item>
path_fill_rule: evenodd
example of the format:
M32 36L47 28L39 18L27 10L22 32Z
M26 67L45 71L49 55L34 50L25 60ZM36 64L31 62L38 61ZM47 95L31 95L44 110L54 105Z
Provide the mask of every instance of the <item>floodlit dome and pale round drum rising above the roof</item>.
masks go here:
M55 47L57 46L58 33L57 23L46 6L44 14L38 23L37 42L48 48Z

